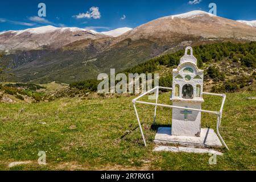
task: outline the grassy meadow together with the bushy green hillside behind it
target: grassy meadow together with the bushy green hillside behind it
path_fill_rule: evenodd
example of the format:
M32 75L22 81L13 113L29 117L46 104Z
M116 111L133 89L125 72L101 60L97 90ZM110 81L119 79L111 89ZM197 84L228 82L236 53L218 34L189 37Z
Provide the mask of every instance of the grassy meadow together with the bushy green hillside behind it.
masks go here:
M70 86L0 85L0 169L255 170L256 43L216 43L193 51L205 71L204 91L227 96L220 133L230 151L219 150L224 155L217 156L217 165L209 165L208 154L152 151L158 127L171 126L170 109L159 108L153 126L154 106L137 106L147 140L144 147L131 103L136 96L97 94L98 81L85 80ZM171 70L183 54L168 53L123 72L159 73L160 85L171 86ZM172 105L171 92L159 93L159 103ZM204 100L202 109L220 109L221 98ZM214 129L216 118L202 113L201 126ZM38 165L39 151L46 151L46 166ZM13 162L26 164L9 167Z

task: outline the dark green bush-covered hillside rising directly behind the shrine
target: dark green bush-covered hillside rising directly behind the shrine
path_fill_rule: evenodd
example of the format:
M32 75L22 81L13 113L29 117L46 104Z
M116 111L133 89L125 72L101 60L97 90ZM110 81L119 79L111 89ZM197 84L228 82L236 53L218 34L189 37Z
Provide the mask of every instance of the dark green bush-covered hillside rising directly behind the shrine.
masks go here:
M253 88L256 78L256 42L245 44L216 43L193 47L197 65L204 69L204 90L237 92ZM172 87L172 69L179 64L184 50L146 61L122 73L159 73L160 86ZM96 91L97 80L72 83L74 88ZM93 85L93 86L92 86Z

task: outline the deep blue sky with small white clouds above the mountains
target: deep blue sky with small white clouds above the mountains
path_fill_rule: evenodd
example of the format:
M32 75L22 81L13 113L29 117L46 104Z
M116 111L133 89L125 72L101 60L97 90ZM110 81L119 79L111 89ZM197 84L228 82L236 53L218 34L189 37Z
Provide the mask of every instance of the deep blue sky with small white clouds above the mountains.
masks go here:
M23 30L51 24L108 31L137 27L162 16L192 10L209 11L234 20L256 20L256 1L243 0L9 0L0 2L0 31ZM46 4L46 17L39 18L38 4Z

